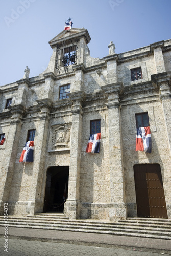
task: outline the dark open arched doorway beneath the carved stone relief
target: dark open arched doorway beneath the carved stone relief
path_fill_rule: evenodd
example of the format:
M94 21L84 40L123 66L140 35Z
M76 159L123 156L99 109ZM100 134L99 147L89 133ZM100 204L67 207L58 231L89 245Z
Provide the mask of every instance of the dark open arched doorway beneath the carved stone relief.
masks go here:
M69 166L54 166L47 170L43 212L63 212L68 195Z

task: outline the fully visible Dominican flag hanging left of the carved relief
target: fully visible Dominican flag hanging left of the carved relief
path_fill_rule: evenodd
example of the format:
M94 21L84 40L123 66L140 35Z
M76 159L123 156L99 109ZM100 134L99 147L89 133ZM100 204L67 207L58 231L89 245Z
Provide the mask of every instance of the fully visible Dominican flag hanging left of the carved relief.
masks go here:
M33 162L33 150L34 150L34 141L26 142L26 145L23 148L19 162Z

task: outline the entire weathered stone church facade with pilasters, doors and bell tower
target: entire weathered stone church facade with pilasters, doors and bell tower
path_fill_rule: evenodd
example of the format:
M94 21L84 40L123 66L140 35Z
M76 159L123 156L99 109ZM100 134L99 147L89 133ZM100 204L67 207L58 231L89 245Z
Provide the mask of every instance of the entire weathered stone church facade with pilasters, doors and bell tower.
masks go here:
M171 218L171 40L92 58L84 28L49 44L47 69L0 87L0 202L10 215ZM150 126L152 152L136 151ZM94 129L94 130L93 130ZM99 153L86 153L101 133ZM27 141L34 161L19 162Z

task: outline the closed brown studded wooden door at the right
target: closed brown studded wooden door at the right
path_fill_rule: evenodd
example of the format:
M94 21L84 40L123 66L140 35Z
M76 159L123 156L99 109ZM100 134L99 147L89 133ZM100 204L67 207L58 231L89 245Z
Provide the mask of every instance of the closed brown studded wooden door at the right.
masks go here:
M168 218L159 164L134 165L138 217Z

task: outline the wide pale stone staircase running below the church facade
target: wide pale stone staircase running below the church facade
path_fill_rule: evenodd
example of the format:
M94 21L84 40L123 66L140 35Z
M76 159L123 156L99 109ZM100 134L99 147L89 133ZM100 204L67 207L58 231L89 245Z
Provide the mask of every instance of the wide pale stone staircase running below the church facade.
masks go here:
M98 220L70 220L63 214L35 214L34 216L0 216L0 226L115 234L171 240L171 220L153 218L127 218L117 222Z

